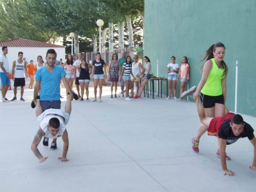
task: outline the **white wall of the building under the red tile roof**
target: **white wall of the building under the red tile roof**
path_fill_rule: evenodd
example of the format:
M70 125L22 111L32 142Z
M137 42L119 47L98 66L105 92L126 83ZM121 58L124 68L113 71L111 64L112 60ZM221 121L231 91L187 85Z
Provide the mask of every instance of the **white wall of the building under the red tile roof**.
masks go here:
M36 62L37 56L41 55L44 62L46 57L46 52L48 49L54 49L57 52L57 59L62 59L62 62L65 61L65 47L8 47L7 58L9 61L9 72L12 72L12 62L18 59L18 52L23 52L23 57L26 58L26 61L29 63L30 60Z

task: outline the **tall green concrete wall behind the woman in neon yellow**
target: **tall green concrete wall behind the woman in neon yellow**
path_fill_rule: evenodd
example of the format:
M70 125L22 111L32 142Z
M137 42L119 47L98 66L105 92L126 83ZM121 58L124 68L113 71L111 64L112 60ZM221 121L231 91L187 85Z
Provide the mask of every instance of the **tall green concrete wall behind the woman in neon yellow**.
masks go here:
M235 74L238 61L237 112L256 116L256 1L255 0L145 0L144 55L156 75L167 75L171 56L180 65L190 64L189 86L198 85L197 66L205 51L216 42L226 46L227 101L235 109ZM178 96L180 83L178 87Z

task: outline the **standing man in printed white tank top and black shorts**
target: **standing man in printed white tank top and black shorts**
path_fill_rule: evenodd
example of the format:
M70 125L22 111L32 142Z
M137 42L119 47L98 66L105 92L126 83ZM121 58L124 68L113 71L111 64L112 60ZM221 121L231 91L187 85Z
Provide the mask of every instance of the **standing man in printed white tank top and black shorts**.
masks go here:
M27 71L27 61L22 60L23 52L18 53L18 60L13 61L12 64L12 79L14 80L14 97L11 101L17 100L17 87L20 86L20 101L25 101L23 99L23 93L24 93L24 86L25 86L25 77L24 72L26 74L26 77L28 77L28 71ZM15 78L14 78L15 77Z

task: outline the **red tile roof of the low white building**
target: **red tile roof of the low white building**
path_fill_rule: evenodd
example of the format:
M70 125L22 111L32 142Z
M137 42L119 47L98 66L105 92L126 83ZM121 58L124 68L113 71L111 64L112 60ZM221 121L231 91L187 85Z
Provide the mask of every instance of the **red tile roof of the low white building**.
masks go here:
M63 45L55 45L50 43L45 43L41 41L33 41L29 39L11 39L7 41L0 41L0 46L7 46L7 47L65 47Z

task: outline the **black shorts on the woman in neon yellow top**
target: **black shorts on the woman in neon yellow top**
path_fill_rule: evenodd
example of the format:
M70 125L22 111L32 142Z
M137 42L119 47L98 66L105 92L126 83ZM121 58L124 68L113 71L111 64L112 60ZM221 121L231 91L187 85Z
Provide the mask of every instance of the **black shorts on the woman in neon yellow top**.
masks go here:
M224 103L224 96L218 95L218 96L209 96L209 95L204 95L203 93L200 92L200 99L203 103L204 108L212 108L215 106L215 103L220 103L220 104L225 104Z

